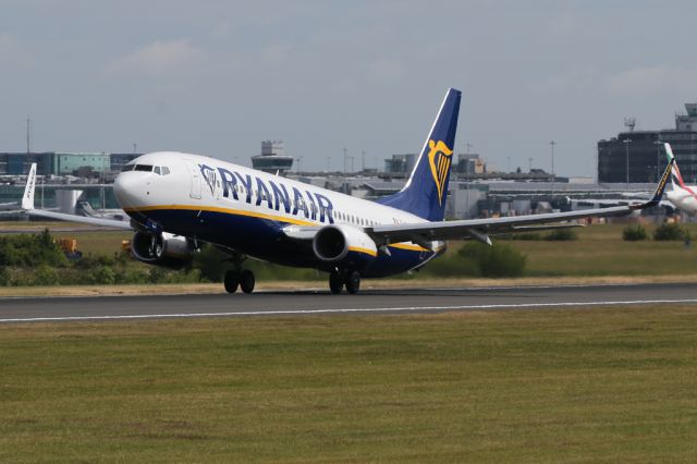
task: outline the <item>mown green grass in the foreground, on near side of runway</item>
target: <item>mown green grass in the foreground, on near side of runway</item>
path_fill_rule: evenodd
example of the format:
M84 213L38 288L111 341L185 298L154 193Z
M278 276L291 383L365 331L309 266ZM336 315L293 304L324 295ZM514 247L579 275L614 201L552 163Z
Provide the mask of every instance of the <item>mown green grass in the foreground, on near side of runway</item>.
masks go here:
M0 461L677 462L697 308L0 327Z

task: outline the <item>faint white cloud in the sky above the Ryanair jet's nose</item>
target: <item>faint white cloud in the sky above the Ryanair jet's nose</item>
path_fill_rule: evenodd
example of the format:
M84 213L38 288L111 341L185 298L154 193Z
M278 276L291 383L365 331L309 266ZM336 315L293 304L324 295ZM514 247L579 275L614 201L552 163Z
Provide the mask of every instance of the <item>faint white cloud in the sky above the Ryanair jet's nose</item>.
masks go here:
M112 61L107 71L159 77L174 72L198 70L206 61L206 52L194 47L187 39L157 40Z

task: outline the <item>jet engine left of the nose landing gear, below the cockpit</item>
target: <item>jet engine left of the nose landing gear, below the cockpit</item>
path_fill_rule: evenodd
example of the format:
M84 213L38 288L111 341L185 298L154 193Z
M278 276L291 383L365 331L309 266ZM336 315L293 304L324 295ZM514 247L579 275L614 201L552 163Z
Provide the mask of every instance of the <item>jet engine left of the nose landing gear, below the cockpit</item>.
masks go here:
M194 244L171 233L136 232L131 241L131 253L143 262L169 268L181 268L194 259Z

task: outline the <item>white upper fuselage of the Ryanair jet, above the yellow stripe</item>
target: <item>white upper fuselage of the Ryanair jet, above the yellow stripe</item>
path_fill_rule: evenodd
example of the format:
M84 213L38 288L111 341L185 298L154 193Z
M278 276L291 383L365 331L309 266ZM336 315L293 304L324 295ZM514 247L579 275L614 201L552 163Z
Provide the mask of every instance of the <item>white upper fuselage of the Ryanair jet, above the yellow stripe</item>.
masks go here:
M144 155L134 163L167 167L170 173L159 175L154 172L129 171L119 174L114 182L114 194L126 211L187 205L230 208L278 218L288 223L322 225L329 223L329 218L317 210L317 195L321 195L332 204L334 223L364 228L374 224L427 222L415 215L389 206L199 155L160 151ZM212 174L208 179L201 174L201 164L211 168L208 172ZM235 175L236 198L235 193L230 192L230 184L225 192L223 182L228 179L221 179L220 169ZM293 204L290 212L285 212L282 198L278 200L274 195L274 184L284 185L289 192ZM270 194L269 197L266 195L267 191L264 191L265 186ZM295 192L301 194L297 198L293 196ZM304 205L296 207L296 203Z

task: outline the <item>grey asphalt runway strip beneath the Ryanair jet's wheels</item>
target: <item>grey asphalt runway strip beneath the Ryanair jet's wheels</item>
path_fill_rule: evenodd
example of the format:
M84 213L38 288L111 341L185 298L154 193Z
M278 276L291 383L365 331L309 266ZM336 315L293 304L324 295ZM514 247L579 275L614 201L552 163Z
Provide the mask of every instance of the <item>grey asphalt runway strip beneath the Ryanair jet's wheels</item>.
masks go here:
M0 322L321 314L401 314L578 306L697 304L697 285L501 286L374 290L331 295L323 290L252 295L151 295L0 300Z

